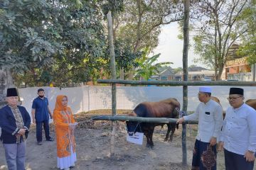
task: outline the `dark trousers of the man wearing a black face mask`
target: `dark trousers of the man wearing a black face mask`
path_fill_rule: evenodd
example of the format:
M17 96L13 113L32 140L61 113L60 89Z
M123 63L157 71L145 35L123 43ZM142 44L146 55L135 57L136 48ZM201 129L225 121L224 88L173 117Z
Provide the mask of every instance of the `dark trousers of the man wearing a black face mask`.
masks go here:
M46 140L50 140L49 120L43 120L42 122L36 121L36 140L37 140L37 142L42 142L42 126L46 133Z

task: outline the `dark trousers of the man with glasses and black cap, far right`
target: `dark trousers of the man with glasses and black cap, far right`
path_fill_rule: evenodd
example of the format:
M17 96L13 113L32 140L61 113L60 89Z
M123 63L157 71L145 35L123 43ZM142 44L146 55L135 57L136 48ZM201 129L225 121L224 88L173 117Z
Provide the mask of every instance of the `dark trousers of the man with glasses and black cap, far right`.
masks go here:
M225 169L226 170L252 170L253 162L246 162L244 155L235 154L224 149Z

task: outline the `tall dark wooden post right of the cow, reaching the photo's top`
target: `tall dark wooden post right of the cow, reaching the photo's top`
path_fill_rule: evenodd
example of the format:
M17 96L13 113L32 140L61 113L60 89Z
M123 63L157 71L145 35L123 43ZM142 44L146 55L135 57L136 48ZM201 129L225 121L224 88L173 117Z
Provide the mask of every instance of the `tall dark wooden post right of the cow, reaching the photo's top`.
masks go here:
M184 1L184 23L183 23L183 81L188 81L188 21L190 0ZM183 111L188 107L188 86L183 86ZM186 124L182 124L182 163L187 164L186 151Z

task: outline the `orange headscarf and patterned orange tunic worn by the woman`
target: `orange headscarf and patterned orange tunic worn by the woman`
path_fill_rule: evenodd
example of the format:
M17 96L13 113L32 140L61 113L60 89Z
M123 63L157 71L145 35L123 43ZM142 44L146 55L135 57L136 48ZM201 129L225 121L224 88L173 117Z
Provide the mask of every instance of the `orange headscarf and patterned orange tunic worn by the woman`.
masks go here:
M71 146L75 152L75 137L73 128L69 123L75 123L70 107L64 107L61 100L64 96L58 96L53 111L53 122L55 125L57 140L57 155L59 158L68 157L71 154Z

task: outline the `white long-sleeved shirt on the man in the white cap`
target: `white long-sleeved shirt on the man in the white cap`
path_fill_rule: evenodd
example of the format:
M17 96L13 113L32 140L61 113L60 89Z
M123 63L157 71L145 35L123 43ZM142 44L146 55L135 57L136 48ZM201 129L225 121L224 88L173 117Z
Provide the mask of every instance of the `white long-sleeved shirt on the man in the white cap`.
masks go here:
M195 113L183 117L184 120L198 120L196 139L210 142L211 137L218 137L223 123L223 110L219 103L210 100L201 102Z

